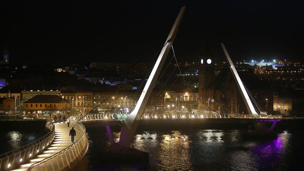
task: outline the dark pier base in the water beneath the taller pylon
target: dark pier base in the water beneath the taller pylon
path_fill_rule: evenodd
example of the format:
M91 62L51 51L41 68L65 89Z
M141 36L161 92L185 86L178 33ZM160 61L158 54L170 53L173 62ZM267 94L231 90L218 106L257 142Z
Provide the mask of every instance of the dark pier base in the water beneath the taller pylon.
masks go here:
M118 143L115 143L104 150L101 154L103 160L108 161L122 161L122 162L148 162L149 153L125 148Z

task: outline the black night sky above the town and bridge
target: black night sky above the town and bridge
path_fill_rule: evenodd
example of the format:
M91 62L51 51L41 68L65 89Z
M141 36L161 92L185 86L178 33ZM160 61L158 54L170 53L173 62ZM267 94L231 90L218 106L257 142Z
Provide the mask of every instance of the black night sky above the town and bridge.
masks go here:
M303 60L303 1L3 1L0 49L20 62L147 61L184 5L179 61L196 61L207 39L220 61L221 42L234 61Z

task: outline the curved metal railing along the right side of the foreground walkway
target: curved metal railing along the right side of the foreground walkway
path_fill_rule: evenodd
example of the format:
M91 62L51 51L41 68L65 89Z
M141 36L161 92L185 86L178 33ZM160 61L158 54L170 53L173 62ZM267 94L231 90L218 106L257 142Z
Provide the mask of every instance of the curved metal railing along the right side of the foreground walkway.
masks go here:
M70 170L74 168L77 162L83 158L88 150L88 138L86 129L83 124L75 119L76 116L70 117L70 126L82 133L82 136L72 145L59 151L58 153L45 158L27 170Z

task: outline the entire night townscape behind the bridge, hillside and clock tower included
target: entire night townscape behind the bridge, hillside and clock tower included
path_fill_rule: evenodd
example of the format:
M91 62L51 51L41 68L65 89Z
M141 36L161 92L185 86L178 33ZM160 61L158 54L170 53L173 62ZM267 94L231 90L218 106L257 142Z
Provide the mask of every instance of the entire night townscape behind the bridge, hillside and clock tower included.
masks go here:
M5 57L8 60L7 48L3 54L3 59ZM180 77L181 73L173 72L176 64L169 64L167 69L173 71L165 72L158 81L146 110L191 109L198 112L247 113L229 67L215 61L214 54L206 44L197 62L180 65L185 80ZM274 67L237 64L236 69L263 111L302 115L302 66L293 63ZM139 99L141 86L145 85L151 67L153 65L145 63L93 62L88 68L73 64L43 74L40 73L41 69L35 73L26 65L2 67L1 71L7 74L5 79L0 79L0 110L36 115L91 110L131 111ZM168 73L171 75L166 75ZM295 79L295 76L300 77ZM282 82L278 84L278 80ZM292 87L287 85L291 81ZM61 86L43 86L54 85L54 82Z

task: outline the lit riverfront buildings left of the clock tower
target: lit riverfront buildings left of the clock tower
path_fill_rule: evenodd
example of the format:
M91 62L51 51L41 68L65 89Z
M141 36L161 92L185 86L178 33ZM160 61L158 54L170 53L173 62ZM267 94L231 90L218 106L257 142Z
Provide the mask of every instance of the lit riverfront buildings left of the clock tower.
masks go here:
M123 88L120 88L120 87ZM117 90L120 88L119 90ZM54 88L19 88L5 86L0 89L0 110L34 113L37 115L49 115L56 113L82 113L89 112L93 108L99 110L131 110L140 97L141 91L132 89L131 86L101 85L91 88L62 87ZM195 98L198 93L154 91L147 104L147 111L178 110L197 108ZM16 106L15 106L16 103Z

